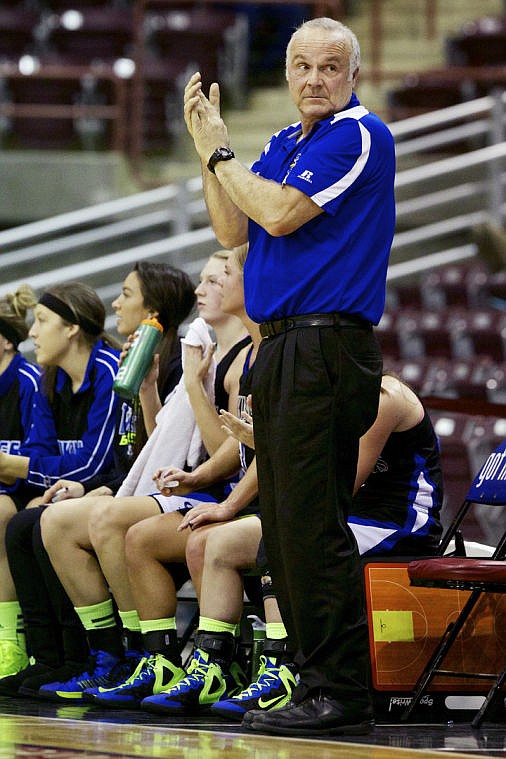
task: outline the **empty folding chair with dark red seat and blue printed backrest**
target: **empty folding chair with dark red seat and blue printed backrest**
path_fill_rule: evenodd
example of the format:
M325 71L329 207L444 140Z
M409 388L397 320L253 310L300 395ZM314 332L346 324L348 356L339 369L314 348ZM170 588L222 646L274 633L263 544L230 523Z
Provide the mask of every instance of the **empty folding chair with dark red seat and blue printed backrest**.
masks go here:
M460 527L473 504L491 507L506 505L506 441L503 441L489 455L474 478L466 499L442 540L441 554L444 554L453 539L456 539L456 545L460 548L457 552L462 550L464 543L461 538ZM502 524L504 525L504 523L503 520ZM459 536L460 540L458 539ZM411 703L403 713L402 721L406 722L409 719L426 694L433 678L443 675L446 677L492 680L492 687L471 722L473 727L481 725L489 707L504 685L506 666L501 672L492 674L446 670L441 669L441 664L469 620L471 613L473 610L477 610L478 601L482 596L487 593L506 593L505 557L506 530L499 536L497 546L489 559L442 555L441 557L412 561L408 564L411 585L469 590L471 593L457 619L448 625L441 636L432 656L418 678Z

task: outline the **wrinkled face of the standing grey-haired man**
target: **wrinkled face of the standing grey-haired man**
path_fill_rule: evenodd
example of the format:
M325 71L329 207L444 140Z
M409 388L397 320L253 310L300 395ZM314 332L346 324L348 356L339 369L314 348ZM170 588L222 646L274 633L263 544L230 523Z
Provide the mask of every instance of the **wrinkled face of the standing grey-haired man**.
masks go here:
M348 104L358 72L350 80L351 46L339 32L296 32L288 49L286 77L303 132Z

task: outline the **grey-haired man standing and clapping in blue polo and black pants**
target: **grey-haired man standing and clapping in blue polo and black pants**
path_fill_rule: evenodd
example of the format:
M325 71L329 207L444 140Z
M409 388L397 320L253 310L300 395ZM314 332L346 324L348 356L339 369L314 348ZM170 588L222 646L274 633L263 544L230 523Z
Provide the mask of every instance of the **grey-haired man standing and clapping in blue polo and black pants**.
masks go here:
M353 93L360 49L338 21L304 23L286 75L300 122L251 170L235 159L199 73L185 120L218 240L249 240L246 309L260 323L253 416L263 534L288 634L293 701L247 726L287 735L372 725L362 571L346 518L360 436L378 407L381 318L395 223L393 138Z

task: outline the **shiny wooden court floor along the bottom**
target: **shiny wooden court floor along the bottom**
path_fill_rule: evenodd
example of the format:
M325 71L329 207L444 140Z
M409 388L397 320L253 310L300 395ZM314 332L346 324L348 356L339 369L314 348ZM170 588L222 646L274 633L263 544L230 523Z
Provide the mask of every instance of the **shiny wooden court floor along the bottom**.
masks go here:
M0 698L0 759L431 759L504 757L506 724L377 724L368 736L292 739L258 735L198 716Z

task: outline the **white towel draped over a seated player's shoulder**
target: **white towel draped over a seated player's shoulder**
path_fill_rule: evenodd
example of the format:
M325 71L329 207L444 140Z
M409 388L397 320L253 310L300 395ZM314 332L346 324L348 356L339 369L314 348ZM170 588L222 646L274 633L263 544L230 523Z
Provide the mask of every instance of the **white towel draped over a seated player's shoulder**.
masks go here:
M195 319L181 339L183 370L186 345L200 346L203 351L211 345L209 329L202 318ZM216 362L213 358L204 380L204 388L211 403L214 403L215 376ZM116 495L149 495L156 491L153 473L157 469L167 466L182 468L186 464L193 469L201 461L204 452L184 377L181 377L156 415L156 427Z

